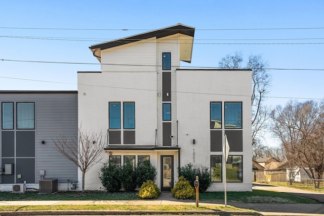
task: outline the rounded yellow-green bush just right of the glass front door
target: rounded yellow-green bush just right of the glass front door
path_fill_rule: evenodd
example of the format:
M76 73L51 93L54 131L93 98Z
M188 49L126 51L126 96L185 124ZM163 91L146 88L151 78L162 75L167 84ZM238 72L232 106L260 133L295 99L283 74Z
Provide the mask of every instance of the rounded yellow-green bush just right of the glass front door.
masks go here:
M179 177L179 181L177 182L176 186L171 189L171 192L172 196L177 199L192 199L195 197L193 187L183 176Z

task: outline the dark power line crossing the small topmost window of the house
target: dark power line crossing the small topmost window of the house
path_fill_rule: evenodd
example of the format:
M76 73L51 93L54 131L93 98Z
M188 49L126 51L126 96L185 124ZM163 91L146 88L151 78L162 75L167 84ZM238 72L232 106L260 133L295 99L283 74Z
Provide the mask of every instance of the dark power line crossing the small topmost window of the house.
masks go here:
M132 65L132 64L107 64L107 63L80 63L80 62L49 62L49 61L27 61L27 60L10 60L10 59L0 59L1 61L8 62L25 62L25 63L44 63L44 64L74 64L74 65L110 65L110 66L137 66L137 67L162 67L161 65ZM179 66L171 66L179 67ZM199 66L181 66L181 68L192 68L192 69L223 69L228 68L221 67L199 67ZM247 70L247 69L257 69L257 68L235 68L237 70ZM235 70L232 69L232 70ZM324 69L306 69L306 68L262 68L264 70L281 70L281 71L324 71Z

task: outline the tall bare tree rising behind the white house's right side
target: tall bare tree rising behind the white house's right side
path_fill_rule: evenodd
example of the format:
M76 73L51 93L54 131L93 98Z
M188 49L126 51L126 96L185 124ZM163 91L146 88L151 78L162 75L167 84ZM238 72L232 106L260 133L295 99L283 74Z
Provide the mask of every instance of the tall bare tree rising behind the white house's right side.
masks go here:
M220 68L242 69L242 53L235 52L234 55L226 55L218 63ZM252 145L260 143L263 132L267 128L269 107L263 104L266 94L270 88L270 76L266 71L268 63L261 55L251 55L248 58L246 69L252 69Z

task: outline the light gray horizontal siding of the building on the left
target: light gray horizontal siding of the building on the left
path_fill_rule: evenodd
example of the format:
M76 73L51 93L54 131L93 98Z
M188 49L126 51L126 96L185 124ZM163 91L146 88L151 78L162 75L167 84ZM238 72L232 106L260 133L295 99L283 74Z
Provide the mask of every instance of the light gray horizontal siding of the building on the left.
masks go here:
M77 167L54 149L53 138L72 139L77 134L77 92L0 92L0 102L35 102L35 182L45 178L65 183L77 181ZM45 141L45 144L42 144ZM42 177L43 178L43 177Z

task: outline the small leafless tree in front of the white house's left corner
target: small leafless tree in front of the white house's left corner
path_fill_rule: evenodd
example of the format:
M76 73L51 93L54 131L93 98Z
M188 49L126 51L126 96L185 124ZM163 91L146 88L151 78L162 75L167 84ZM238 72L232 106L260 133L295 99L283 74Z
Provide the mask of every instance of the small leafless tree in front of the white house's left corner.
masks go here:
M56 139L53 138L53 142L54 149L71 160L82 171L82 192L85 192L86 172L102 159L106 137L102 132L89 132L80 126L73 139L60 136Z

